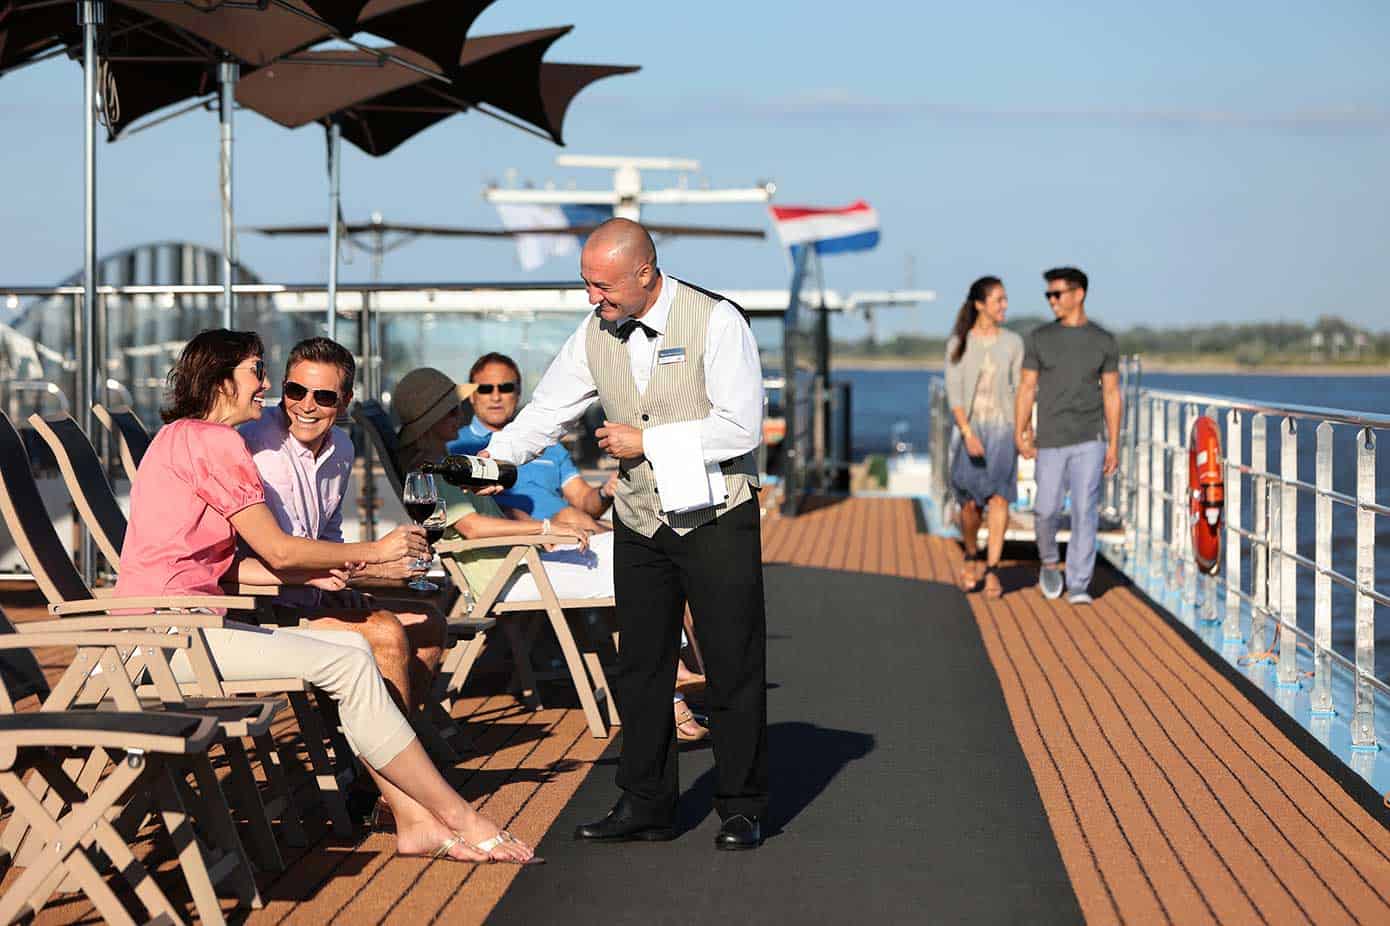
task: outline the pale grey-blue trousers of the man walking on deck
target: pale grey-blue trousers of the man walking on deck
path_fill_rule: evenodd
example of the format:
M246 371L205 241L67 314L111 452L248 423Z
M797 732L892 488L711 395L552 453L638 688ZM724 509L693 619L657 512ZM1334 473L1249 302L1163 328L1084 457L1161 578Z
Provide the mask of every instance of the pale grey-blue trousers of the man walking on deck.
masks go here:
M1038 484L1033 513L1037 517L1038 558L1058 562L1056 528L1062 502L1072 495L1072 541L1066 546L1066 590L1084 592L1095 571L1095 533L1101 524L1101 471L1105 441L1038 448L1033 470Z

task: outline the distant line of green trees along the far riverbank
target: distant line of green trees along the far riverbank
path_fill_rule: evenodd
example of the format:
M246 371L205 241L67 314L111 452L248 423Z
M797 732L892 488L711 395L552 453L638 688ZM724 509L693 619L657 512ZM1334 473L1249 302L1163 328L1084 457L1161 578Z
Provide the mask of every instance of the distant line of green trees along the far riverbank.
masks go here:
M1041 316L1011 318L1005 327L1026 334L1051 321ZM1104 324L1104 320L1101 320ZM1287 321L1155 328L1137 325L1115 331L1122 353L1138 353L1154 360L1193 363L1301 364L1301 363L1390 363L1390 332L1376 334L1336 316L1322 316L1314 324ZM835 356L913 359L940 363L947 335L899 334L873 342L837 341Z

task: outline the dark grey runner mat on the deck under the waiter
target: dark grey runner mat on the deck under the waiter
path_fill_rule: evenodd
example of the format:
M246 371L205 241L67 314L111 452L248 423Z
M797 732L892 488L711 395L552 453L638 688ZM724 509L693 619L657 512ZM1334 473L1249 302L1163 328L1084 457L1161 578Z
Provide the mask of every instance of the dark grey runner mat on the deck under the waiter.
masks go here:
M619 741L489 923L1080 922L959 591L769 566L767 633L763 848L714 851L709 748L681 754L677 841L575 843L617 797Z

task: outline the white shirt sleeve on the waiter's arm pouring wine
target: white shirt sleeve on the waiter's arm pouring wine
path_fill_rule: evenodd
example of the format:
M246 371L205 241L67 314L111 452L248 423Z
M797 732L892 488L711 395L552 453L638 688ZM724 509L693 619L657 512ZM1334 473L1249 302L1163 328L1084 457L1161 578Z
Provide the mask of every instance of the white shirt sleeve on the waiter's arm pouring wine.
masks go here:
M585 316L578 330L560 348L537 384L531 400L505 428L492 435L488 453L506 463L527 463L550 446L598 399L584 348L585 331L594 316Z

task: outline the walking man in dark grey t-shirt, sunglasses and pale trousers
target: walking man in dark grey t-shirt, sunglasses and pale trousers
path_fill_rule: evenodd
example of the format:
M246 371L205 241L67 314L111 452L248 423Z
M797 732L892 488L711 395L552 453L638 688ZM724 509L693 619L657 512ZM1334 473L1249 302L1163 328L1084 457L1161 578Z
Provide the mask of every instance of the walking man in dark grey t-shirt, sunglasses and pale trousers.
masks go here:
M1088 279L1084 273L1058 267L1042 278L1056 321L1024 339L1013 434L1019 453L1037 459L1033 512L1042 560L1038 574L1042 595L1059 598L1065 584L1069 602L1088 605L1099 530L1101 477L1119 467L1119 345L1115 335L1086 317ZM1034 399L1038 410L1036 437ZM1056 530L1068 492L1072 495L1072 541L1063 576Z

